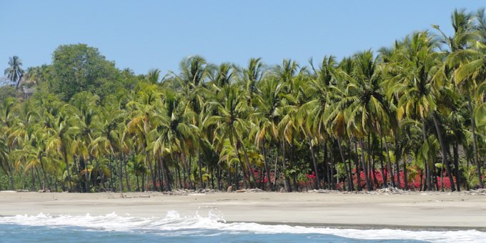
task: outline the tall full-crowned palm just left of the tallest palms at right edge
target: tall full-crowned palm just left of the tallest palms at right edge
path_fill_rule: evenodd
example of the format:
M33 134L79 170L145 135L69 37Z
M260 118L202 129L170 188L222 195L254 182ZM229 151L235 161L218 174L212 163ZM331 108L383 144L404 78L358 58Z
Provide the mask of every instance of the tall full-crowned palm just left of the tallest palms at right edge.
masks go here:
M422 138L426 143L427 118L437 108L437 93L434 92L432 80L437 73L437 66L440 66L441 54L435 51L438 47L437 40L427 31L406 36L400 46L400 51L397 51L394 60L387 67L395 74L392 79L385 81L387 95L397 96L398 113L420 119ZM437 134L439 133L440 131L437 131ZM445 159L445 154L442 157ZM425 159L427 189L430 190L433 167L432 162Z

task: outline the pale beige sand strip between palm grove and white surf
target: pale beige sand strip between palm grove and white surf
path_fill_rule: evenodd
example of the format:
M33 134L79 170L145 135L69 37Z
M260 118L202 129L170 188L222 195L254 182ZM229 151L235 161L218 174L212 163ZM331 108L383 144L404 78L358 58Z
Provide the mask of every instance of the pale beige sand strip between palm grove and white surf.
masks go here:
M59 214L164 217L209 212L227 222L319 227L486 230L486 196L443 194L0 192L0 216Z

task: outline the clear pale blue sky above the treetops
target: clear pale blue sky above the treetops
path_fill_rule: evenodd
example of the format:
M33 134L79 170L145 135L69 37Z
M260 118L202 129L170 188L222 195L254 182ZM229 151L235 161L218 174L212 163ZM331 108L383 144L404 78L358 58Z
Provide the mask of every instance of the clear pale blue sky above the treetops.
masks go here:
M184 57L246 66L293 59L302 66L324 55L391 46L412 31L438 24L452 33L454 9L477 11L484 1L0 1L0 76L9 56L23 67L51 64L61 44L88 44L119 69L178 70Z

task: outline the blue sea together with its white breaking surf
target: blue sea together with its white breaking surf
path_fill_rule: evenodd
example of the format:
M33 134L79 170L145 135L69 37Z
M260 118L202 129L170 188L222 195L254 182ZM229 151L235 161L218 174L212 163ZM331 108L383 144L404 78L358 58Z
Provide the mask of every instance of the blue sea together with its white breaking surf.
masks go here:
M336 229L227 223L221 215L0 217L0 242L485 242L477 230Z

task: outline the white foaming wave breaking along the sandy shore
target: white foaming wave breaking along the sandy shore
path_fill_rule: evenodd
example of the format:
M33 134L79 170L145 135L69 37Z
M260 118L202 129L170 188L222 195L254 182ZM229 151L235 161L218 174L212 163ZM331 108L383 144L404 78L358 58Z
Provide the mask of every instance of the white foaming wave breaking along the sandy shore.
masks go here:
M46 227L84 227L89 230L151 232L154 234L330 234L353 239L410 239L430 242L480 242L486 239L486 232L477 230L430 231L401 229L336 229L329 227L300 227L285 224L267 225L257 223L227 223L221 214L209 212L207 217L198 213L195 216L181 216L169 211L165 217L130 217L116 213L104 216L60 215L16 215L0 217L0 224L20 224ZM208 231L211 234L208 234Z

